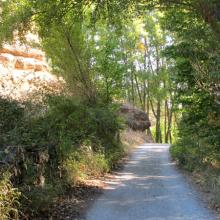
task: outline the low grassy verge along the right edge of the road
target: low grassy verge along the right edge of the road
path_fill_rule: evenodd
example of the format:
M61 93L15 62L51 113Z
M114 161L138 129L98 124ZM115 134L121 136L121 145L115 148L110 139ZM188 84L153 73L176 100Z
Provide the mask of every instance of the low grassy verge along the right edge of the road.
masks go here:
M202 159L197 150L195 147L176 144L171 146L170 152L178 166L187 171L193 183L199 186L209 205L220 213L219 163Z

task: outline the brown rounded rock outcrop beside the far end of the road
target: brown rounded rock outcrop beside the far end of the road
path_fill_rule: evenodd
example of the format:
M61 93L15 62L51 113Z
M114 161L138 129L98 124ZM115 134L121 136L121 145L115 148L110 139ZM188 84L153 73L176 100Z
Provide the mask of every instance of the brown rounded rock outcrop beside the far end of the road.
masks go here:
M145 131L151 126L147 114L130 104L121 106L120 115L125 118L128 127L134 131Z

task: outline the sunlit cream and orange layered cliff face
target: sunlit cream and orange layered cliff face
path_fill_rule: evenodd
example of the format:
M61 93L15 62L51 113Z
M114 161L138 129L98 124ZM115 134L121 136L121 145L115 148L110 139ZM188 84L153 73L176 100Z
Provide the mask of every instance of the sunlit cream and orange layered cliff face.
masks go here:
M35 42L36 36L27 36ZM34 41L33 41L33 38ZM61 80L62 81L62 80ZM63 81L62 81L63 83ZM60 79L50 74L45 54L15 40L0 48L0 94L5 98L27 100L35 93L58 92Z

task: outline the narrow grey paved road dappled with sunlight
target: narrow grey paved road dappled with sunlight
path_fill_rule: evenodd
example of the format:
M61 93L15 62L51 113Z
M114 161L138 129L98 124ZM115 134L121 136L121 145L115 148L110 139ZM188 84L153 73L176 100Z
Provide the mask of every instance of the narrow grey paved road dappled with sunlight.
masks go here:
M138 147L88 211L87 220L214 220L170 161L169 146Z

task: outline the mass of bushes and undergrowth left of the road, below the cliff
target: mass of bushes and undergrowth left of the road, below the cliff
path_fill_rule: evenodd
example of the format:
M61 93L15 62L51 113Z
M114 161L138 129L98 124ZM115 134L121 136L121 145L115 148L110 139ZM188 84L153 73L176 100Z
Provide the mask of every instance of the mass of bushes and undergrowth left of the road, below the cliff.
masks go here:
M27 103L1 104L0 161L12 173L0 182L2 219L45 216L69 187L104 174L124 154L116 106L50 96L43 114L30 115Z

